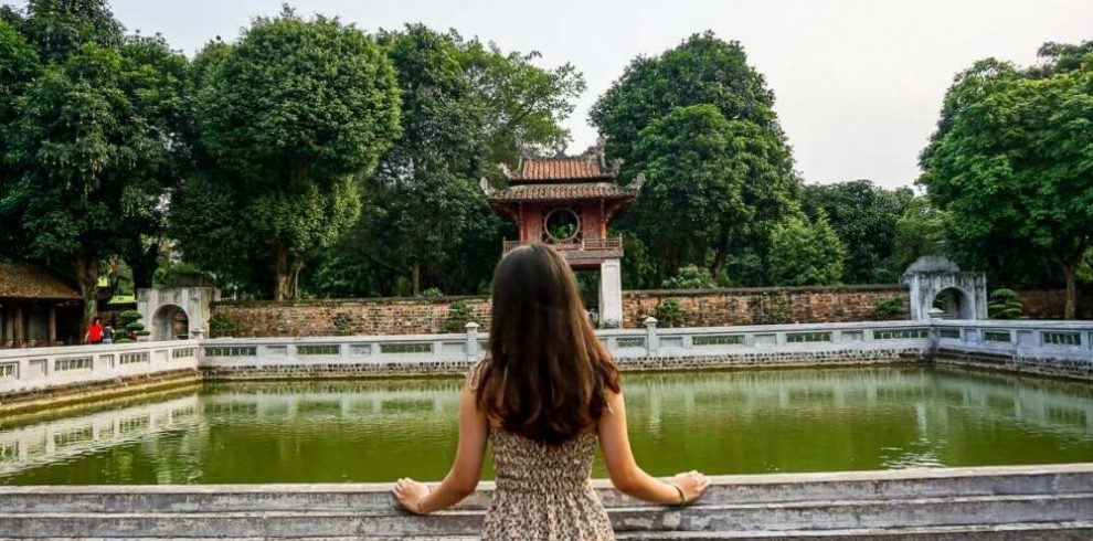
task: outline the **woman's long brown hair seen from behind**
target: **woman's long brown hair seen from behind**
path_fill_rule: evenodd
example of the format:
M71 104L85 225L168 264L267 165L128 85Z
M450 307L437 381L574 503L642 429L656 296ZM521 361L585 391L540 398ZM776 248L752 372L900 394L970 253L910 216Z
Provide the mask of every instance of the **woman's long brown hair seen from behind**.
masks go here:
M507 432L552 445L591 428L607 407L605 392L619 392L618 368L561 254L532 244L502 257L491 309L478 409Z

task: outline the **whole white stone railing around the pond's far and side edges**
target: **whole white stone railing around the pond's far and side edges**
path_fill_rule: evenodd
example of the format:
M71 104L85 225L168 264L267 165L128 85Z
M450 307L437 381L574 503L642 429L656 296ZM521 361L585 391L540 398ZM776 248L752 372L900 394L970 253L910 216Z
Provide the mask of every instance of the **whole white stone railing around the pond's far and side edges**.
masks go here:
M871 321L598 332L624 370L831 365L934 360L1093 379L1093 321ZM12 394L182 369L209 376L458 374L488 337L216 338L0 350L0 401Z

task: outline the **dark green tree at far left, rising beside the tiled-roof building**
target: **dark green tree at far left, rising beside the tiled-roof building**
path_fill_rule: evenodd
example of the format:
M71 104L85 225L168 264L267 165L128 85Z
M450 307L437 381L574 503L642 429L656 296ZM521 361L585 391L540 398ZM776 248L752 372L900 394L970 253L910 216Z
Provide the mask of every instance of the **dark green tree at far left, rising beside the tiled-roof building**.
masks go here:
M185 59L159 38L83 44L15 100L0 213L18 216L26 255L70 269L97 311L100 261L141 246L176 173L171 117Z

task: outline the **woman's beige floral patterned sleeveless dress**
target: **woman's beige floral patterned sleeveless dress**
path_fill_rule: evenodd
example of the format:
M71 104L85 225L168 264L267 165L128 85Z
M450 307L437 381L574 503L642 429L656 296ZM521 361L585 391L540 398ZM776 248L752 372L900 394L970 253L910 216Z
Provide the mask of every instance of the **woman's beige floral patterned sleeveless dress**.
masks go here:
M607 511L592 489L595 433L550 446L490 428L497 489L482 539L614 540Z

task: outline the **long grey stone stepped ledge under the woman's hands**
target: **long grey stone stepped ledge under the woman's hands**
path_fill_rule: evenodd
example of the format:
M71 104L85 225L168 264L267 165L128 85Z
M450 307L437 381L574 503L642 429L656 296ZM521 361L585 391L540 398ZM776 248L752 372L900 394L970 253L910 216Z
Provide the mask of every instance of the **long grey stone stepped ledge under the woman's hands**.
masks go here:
M686 509L595 481L620 540L1093 539L1093 464L715 477ZM390 485L0 487L0 539L476 539L491 484L429 517Z

